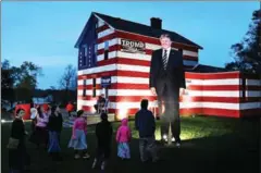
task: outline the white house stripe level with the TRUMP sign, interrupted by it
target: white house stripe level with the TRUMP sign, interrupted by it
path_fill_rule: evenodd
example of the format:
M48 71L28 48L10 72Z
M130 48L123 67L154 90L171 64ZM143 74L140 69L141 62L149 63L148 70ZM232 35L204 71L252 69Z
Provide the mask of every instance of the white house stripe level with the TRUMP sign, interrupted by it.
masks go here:
M112 41L109 44L109 46L114 46L114 45L121 45L121 38L114 38L112 39ZM102 46L102 44L98 45L98 49L103 49L104 47ZM149 49L149 50L157 50L157 49L161 49L160 45L154 45L154 44L145 44L145 48ZM178 50L177 48L172 48L174 50ZM194 51L189 51L189 50L184 50L183 51L184 55L190 55L190 57L198 57L198 52L194 52Z

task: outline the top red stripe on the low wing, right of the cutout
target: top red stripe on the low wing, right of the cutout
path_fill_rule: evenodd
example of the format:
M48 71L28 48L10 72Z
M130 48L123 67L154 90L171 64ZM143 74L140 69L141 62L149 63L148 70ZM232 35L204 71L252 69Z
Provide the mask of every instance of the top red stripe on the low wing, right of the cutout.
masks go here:
M225 78L239 78L239 72L226 73L188 73L186 72L187 79L225 79Z

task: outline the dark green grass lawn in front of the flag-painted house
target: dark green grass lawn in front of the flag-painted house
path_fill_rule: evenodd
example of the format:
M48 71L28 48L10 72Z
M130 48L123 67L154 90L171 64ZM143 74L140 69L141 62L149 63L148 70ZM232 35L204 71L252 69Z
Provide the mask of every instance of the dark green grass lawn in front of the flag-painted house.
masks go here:
M139 161L137 132L133 131L132 159L121 161L116 157L116 144L113 141L112 156L108 165L110 173L159 173L169 171L174 173L258 173L259 172L259 120L238 120L222 118L182 118L181 148L159 148L161 161L142 164ZM129 123L132 128L133 121ZM119 123L113 123L114 132ZM157 122L157 138L159 138L159 122ZM88 127L88 150L95 155L95 126ZM26 124L29 131L29 124ZM10 123L2 124L2 172L8 173L8 151L5 149L10 134ZM45 150L37 150L27 144L32 157L32 173L89 173L92 157L89 160L74 160L73 150L67 143L71 128L62 132L62 163L54 163ZM113 136L114 137L114 136Z

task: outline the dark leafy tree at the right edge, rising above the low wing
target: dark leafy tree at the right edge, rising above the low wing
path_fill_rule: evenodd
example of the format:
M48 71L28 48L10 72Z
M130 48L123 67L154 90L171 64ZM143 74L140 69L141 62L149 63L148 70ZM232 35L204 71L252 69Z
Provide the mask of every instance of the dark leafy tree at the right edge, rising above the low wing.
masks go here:
M235 61L226 63L227 70L261 74L261 10L252 13L244 39L231 48Z

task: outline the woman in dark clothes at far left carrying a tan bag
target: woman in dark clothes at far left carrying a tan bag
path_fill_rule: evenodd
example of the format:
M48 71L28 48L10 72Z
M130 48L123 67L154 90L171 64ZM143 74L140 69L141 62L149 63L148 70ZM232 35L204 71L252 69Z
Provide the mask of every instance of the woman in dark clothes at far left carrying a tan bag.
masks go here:
M10 138L18 140L16 148L9 147L9 168L11 173L22 173L24 172L24 168L29 165L29 156L25 147L25 135L27 133L22 120L24 115L25 111L23 109L17 110L11 127Z

